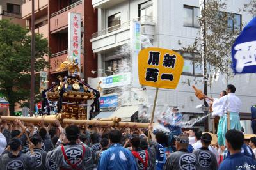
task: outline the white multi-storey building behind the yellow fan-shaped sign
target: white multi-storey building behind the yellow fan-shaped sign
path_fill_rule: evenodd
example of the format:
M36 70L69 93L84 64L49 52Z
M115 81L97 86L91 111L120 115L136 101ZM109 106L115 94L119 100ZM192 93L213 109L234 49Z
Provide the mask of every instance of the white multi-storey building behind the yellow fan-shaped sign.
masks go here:
M248 1L225 1L228 6L227 12L236 14L238 25L246 24L252 19L248 13L239 11L239 8ZM132 60L132 55L129 54L129 50L126 50L127 44L131 43L133 31L129 27L131 20L141 22L141 33L153 44L153 47L180 50L193 43L198 36L196 16L199 15L199 0L93 0L92 4L98 10L98 32L92 35L91 42L93 52L98 56L99 73L112 75L110 70L118 72L118 65L122 65L129 58ZM143 36L143 38L145 37ZM157 105L160 108L166 104L178 106L181 112L199 113L200 111L195 106L203 102L195 97L191 86L184 85L182 82L191 79L191 84L194 84L195 75L202 75L202 70L193 66L193 62L191 63L193 58L189 54L184 53L183 57L185 59L184 73L182 73L177 89L159 89ZM130 68L132 67L130 66ZM98 76L106 75L98 74ZM136 75L132 74L131 77L134 76ZM236 94L243 102L242 113L250 113L250 106L256 102L256 88L252 85L256 82L255 77L255 74L236 75L228 82L237 88ZM202 76L197 79L202 79ZM97 86L98 81L99 79L89 79L92 86ZM196 86L203 89L203 84L196 84ZM226 88L226 82L220 76L218 81L214 82L213 87L211 89L212 97L218 98L220 91ZM115 93L115 91L110 92L109 88L103 89L105 94ZM148 103L153 103L154 88L142 87L137 91L142 91L143 97L148 95ZM145 93L147 94L145 95ZM139 96L141 97L141 95Z

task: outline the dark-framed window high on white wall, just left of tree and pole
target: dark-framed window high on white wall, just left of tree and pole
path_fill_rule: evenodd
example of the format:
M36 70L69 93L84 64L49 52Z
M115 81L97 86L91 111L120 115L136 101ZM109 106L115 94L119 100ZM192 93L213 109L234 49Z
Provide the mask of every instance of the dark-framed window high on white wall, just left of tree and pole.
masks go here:
M184 5L184 26L199 27L199 8Z

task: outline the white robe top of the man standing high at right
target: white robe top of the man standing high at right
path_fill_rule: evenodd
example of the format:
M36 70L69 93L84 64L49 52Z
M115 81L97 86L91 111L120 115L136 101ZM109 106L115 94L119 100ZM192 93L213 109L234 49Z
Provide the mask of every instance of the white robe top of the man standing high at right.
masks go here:
M240 112L242 102L240 98L238 98L235 93L228 93L227 96L223 96L219 99L213 101L212 108L213 112L212 115L223 116L226 112L227 108L227 97L228 97L228 112Z

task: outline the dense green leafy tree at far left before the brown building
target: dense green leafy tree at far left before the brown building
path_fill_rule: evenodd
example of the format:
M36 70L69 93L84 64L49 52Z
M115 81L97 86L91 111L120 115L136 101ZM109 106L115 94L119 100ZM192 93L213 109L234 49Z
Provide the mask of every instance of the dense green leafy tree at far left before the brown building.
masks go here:
M35 72L49 67L44 58L48 54L47 40L36 34ZM28 29L12 24L10 20L0 20L0 93L10 104L10 114L14 112L15 103L29 101L30 62L31 36Z

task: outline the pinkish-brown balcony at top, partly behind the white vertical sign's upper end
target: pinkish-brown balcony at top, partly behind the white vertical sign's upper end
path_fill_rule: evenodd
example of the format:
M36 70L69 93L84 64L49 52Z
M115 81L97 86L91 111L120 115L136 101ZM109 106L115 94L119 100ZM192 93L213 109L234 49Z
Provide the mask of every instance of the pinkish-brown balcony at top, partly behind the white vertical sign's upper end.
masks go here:
M70 6L61 9L58 12L52 13L50 16L50 32L56 33L68 28L68 12L81 13L84 15L83 0L77 1Z

